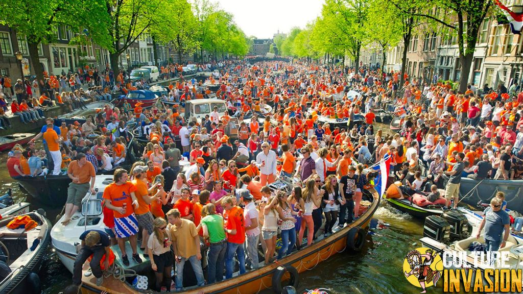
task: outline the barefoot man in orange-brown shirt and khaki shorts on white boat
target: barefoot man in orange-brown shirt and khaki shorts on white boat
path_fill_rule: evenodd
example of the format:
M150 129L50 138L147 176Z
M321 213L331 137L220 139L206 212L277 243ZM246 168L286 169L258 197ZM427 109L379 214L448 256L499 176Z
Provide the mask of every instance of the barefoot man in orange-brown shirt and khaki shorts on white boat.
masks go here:
M67 188L67 201L65 204L65 219L62 222L63 225L69 223L73 214L78 210L78 207L82 205L82 199L87 191L95 193L95 168L92 163L87 161L87 157L84 153L76 154L76 160L69 164L67 176L69 176L73 182L71 182L69 188ZM91 182L90 186L89 181Z

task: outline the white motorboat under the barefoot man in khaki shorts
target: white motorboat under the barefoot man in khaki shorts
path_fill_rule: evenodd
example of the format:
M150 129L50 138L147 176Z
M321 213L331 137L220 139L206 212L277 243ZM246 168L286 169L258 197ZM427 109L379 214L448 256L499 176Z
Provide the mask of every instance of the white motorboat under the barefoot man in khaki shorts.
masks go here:
M74 261L77 256L76 247L81 243L80 235L87 230L105 231L104 214L102 213L102 199L104 196L104 189L113 182L111 175L98 175L95 179L96 193L91 195L87 193L82 199L82 207L80 211L76 211L71 218L71 222L63 225L62 217L51 230L51 242L56 250L56 254L64 266L73 273ZM87 218L87 224L85 219ZM140 245L140 244L139 244ZM126 244L127 254L131 256L131 247L129 242ZM116 261L121 262L121 251L118 245L111 246L111 250L115 253ZM139 251L142 260L143 255ZM129 258L130 267L137 265L132 258Z

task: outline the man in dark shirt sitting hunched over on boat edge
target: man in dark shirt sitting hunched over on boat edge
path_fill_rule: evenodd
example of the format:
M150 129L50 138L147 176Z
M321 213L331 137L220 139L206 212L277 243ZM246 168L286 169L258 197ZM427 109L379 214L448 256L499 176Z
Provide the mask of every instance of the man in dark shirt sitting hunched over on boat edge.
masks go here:
M74 261L73 269L73 284L82 284L82 266L89 256L93 255L93 258L89 262L89 266L96 277L96 286L100 286L104 282L104 276L102 273L100 261L104 254L106 256L104 261L104 269L109 268L109 251L111 242L109 236L105 232L98 230L87 230L80 235L82 240L82 248L78 252Z

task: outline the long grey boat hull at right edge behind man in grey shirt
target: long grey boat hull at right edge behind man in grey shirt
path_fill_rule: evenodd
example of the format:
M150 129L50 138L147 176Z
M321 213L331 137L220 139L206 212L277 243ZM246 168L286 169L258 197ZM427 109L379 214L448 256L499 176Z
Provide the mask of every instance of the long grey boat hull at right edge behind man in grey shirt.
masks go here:
M496 196L498 191L505 193L505 201L507 201L507 209L521 211L523 207L523 197L521 197L521 190L523 188L523 180L504 180L504 179L483 179L481 181L471 178L461 178L460 194L465 195L460 197L460 201L475 206L477 202L490 201Z

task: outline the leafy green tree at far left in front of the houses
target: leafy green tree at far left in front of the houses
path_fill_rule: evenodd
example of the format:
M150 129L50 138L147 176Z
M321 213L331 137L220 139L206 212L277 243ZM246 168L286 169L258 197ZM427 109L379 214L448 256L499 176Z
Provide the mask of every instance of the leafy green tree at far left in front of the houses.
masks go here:
M56 40L55 25L66 25L75 32L77 35L73 41L87 38L100 46L110 42L105 0L19 0L16 3L0 0L0 8L0 24L15 28L18 36L26 37L30 60L39 81L43 81L43 70L38 47L41 43Z

